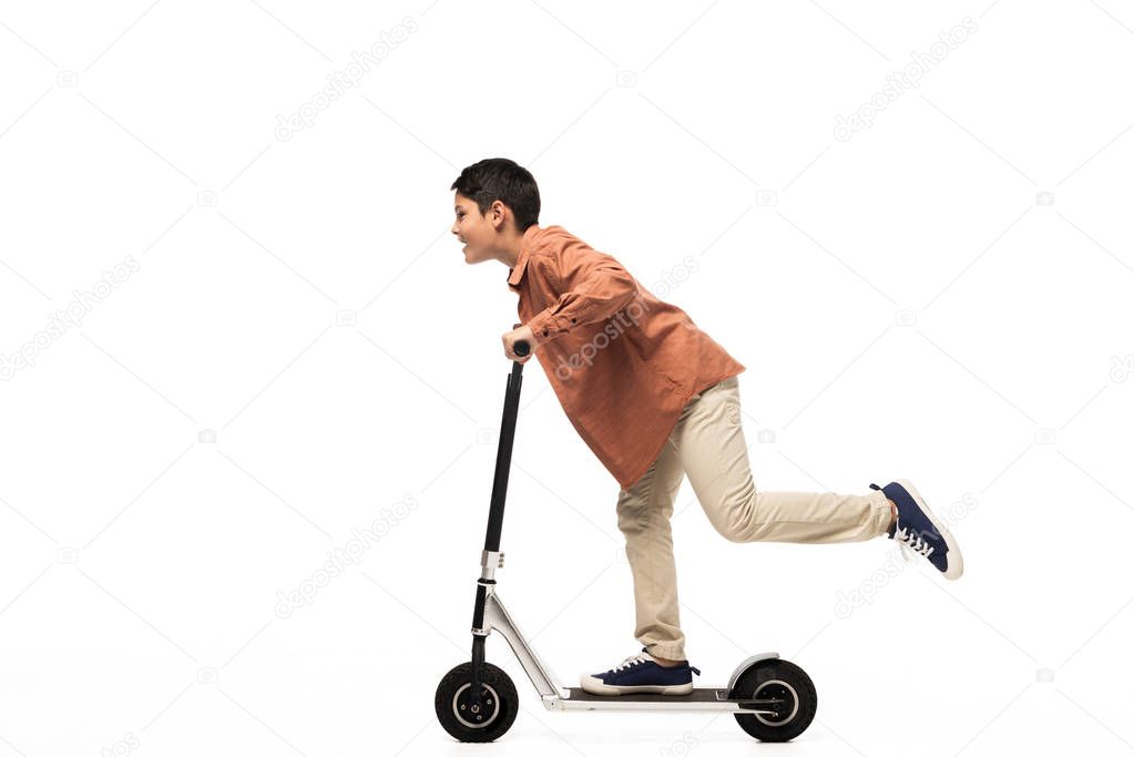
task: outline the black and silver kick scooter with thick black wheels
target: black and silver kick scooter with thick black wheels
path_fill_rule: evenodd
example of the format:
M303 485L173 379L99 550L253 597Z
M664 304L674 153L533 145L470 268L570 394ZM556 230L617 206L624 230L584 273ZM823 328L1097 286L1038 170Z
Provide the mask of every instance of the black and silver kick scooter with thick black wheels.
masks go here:
M513 349L523 357L530 346L517 341ZM496 570L503 568L500 529L523 372L523 364L514 362L505 390L488 534L473 610L473 660L450 670L437 687L433 706L441 726L459 741L494 741L511 728L519 711L516 687L500 667L484 661L484 640L489 633L498 631L508 641L548 709L723 711L733 713L741 728L761 741L788 741L803 733L815 715L815 687L803 669L780 660L775 652L746 658L733 671L726 687L694 688L684 696L601 696L582 688L559 686L496 592Z

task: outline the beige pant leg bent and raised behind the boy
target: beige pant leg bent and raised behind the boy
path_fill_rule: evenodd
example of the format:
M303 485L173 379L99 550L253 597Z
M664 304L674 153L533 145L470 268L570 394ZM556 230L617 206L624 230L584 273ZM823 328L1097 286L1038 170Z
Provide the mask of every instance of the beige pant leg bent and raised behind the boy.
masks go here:
M871 494L762 492L752 479L736 376L692 402L671 434L682 468L713 527L730 542L830 544L881 536L890 505Z

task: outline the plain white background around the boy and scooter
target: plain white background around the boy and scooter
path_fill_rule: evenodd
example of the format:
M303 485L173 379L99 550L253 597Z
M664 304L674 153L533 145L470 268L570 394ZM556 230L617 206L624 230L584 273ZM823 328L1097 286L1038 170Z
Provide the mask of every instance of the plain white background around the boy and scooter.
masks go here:
M793 754L1127 754L1132 65L1114 0L3 3L0 755L477 749L433 691L469 654L516 298L449 186L498 155L747 366L758 486L909 477L964 550L953 584L886 539L731 544L684 484L699 684L801 664ZM497 578L564 686L640 646L617 492L530 363ZM755 746L545 712L488 650L523 703L494 754Z

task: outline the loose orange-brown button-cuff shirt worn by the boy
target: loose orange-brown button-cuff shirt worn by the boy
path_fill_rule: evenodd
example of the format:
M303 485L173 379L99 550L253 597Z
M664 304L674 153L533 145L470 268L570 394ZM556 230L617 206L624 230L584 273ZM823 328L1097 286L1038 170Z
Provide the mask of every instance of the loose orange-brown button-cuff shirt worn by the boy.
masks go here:
M562 227L527 228L508 287L559 403L623 488L694 394L745 371L685 311Z

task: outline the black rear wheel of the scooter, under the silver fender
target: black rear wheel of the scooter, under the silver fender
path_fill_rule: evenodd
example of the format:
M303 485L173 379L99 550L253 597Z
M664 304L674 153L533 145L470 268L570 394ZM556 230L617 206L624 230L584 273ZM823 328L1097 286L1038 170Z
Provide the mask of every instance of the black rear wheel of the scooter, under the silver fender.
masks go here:
M764 699L771 713L733 713L745 733L761 741L790 741L807 730L815 716L815 684L803 669L786 660L763 660L737 679L730 699Z

